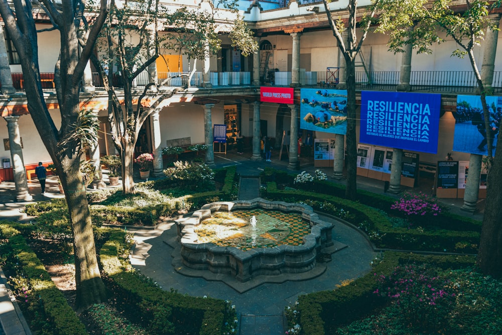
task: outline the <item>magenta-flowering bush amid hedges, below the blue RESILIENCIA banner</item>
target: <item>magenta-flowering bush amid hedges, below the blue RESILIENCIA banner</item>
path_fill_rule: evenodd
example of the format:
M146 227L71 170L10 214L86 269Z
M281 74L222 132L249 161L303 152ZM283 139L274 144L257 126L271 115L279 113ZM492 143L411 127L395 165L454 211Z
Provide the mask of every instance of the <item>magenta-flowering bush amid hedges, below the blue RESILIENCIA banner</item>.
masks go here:
M391 206L391 209L396 209L409 218L423 217L424 219L437 216L443 210L434 198L422 192L404 193L403 197Z

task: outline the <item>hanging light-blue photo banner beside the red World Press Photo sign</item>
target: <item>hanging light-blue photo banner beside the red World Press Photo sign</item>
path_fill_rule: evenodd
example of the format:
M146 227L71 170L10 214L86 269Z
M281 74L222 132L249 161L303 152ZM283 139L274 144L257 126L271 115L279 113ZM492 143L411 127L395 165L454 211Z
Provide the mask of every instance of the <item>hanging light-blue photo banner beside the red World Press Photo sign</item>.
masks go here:
M302 88L300 99L301 129L347 133L347 90Z

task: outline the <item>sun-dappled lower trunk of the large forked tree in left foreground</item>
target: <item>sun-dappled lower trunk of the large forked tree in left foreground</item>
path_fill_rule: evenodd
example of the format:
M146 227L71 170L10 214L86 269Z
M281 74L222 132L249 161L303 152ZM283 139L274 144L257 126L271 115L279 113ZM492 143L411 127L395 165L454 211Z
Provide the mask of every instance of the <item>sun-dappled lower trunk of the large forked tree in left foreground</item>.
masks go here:
M80 307L106 300L96 258L94 235L87 196L80 173L80 157L63 159L64 173L60 174L73 229L75 257L76 301Z

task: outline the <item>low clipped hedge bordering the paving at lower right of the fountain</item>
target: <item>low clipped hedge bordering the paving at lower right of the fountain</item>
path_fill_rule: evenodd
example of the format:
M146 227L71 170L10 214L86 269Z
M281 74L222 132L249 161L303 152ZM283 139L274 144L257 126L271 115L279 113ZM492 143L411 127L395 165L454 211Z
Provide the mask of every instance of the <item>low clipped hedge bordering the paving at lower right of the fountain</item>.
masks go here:
M386 252L382 261L365 276L335 290L320 291L298 297L302 334L323 335L334 333L336 328L369 315L385 299L374 294L377 288L375 275L390 275L395 267L410 263L428 263L443 269L471 266L474 256L433 256Z

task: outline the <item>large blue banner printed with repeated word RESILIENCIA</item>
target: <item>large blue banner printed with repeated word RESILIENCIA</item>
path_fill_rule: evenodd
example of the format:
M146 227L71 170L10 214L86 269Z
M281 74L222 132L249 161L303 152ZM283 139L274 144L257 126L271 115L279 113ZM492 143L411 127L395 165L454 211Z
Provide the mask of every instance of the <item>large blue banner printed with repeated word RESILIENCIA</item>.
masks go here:
M361 92L359 142L437 153L440 94Z

